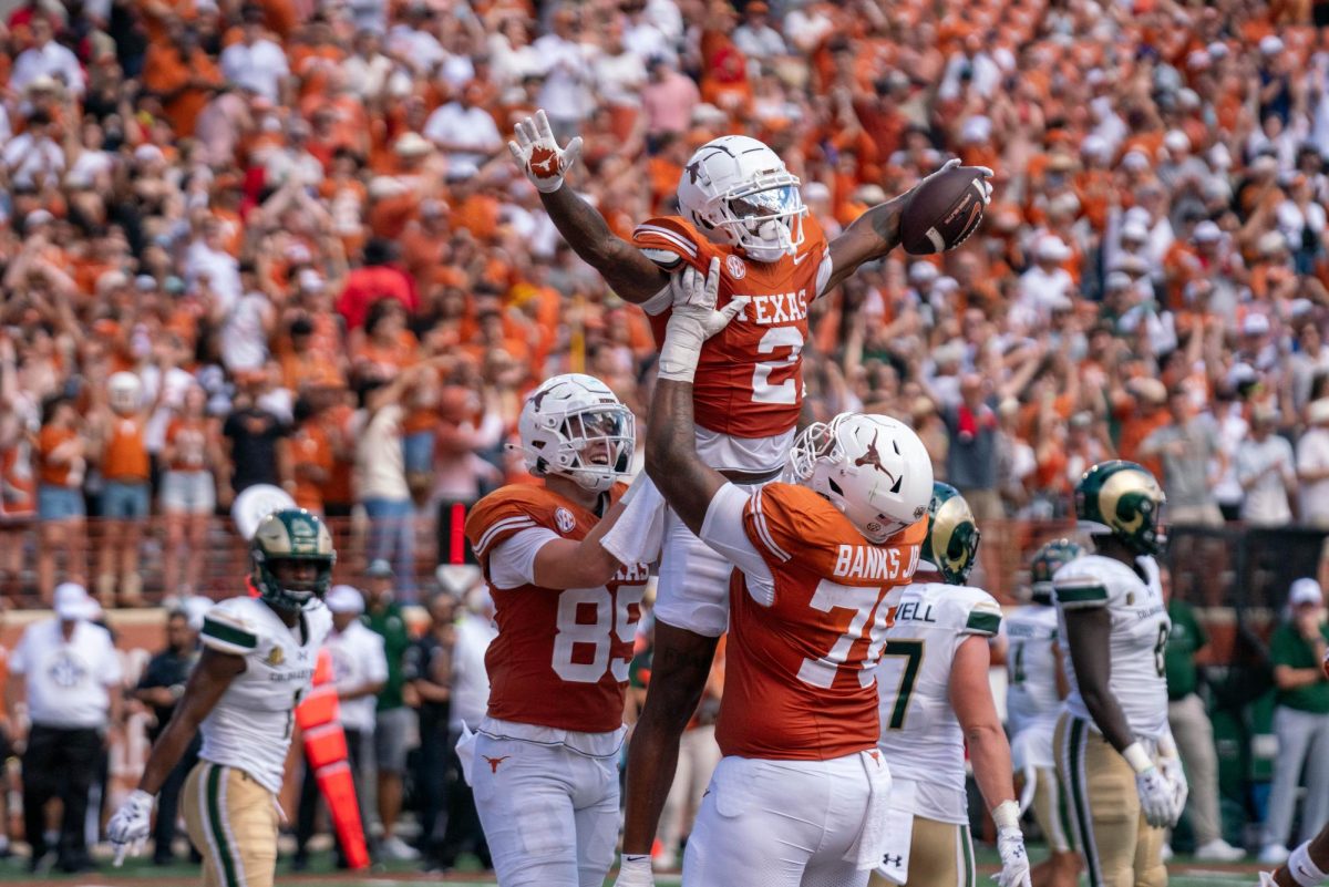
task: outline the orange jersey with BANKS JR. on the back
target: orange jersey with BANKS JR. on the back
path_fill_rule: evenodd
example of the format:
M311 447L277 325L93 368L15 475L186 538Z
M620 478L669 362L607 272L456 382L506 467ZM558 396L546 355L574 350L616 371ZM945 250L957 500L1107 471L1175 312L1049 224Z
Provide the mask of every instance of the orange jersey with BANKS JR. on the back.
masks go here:
M872 544L808 487L771 483L752 495L743 528L771 567L775 602L754 600L734 571L720 750L827 761L876 748L882 602L918 567L928 521Z

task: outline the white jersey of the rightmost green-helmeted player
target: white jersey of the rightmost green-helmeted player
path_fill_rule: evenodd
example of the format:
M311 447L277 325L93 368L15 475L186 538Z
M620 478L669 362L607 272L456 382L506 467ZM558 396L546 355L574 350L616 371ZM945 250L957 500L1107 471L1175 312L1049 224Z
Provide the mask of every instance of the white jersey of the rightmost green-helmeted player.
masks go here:
M1066 611L1107 607L1112 620L1108 649L1112 676L1108 686L1138 736L1156 738L1167 732L1167 681L1163 649L1172 620L1163 604L1159 566L1154 558L1136 558L1147 582L1111 558L1088 555L1066 564L1053 576L1059 631L1066 636ZM1092 722L1075 683L1075 667L1066 656L1070 692L1066 710Z

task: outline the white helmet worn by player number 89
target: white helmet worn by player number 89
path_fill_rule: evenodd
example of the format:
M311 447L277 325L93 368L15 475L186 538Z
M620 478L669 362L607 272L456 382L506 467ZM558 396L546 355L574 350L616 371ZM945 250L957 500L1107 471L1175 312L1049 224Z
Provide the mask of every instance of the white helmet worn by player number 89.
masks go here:
M603 493L625 477L637 446L635 417L609 386L583 373L545 380L517 420L526 470Z

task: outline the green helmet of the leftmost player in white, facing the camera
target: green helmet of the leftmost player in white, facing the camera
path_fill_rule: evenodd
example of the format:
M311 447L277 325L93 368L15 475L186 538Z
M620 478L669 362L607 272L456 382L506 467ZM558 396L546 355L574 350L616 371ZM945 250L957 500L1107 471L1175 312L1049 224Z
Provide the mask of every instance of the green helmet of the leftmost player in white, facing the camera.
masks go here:
M282 563L312 563L318 572L310 580L282 580ZM282 509L258 523L250 539L250 568L259 598L282 609L300 609L322 600L332 584L336 551L332 534L316 514L304 509Z

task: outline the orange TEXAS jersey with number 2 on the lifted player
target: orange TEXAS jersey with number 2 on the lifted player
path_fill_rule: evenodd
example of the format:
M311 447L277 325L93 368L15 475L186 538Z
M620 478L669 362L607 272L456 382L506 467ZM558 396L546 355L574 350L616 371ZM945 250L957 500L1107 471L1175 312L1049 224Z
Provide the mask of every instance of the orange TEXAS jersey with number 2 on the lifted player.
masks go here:
M718 256L716 304L724 307L738 296L751 299L743 313L702 348L692 385L696 424L747 438L792 430L803 406L808 304L829 276L831 248L821 226L811 215L804 218L797 255L779 262L746 259L672 215L637 226L633 243L671 272L682 270L683 263L707 271ZM668 316L668 309L651 316L657 344L664 341Z

